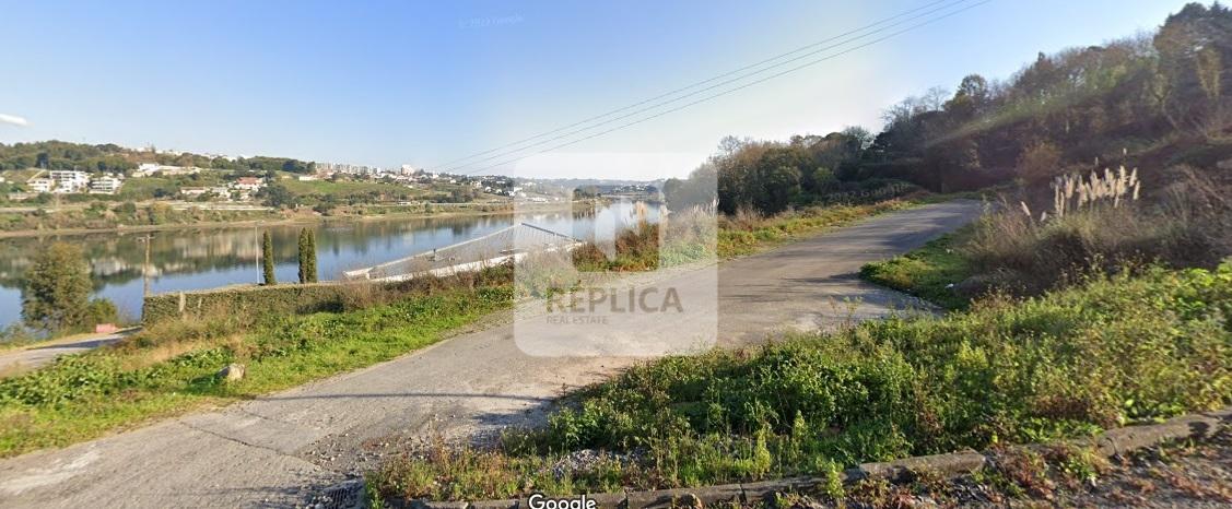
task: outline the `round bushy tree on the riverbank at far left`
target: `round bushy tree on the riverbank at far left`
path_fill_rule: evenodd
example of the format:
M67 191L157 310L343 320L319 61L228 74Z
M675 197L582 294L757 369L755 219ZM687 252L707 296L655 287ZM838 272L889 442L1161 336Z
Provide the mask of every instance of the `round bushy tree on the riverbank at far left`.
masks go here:
M62 242L48 245L34 259L25 280L21 317L27 325L58 332L86 324L90 266L80 248Z

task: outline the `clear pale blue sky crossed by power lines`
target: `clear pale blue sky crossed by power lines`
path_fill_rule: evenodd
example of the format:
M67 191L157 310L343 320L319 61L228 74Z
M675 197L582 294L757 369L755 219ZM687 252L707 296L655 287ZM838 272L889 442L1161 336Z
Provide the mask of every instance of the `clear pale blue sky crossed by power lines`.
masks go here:
M934 0L0 0L0 143L63 139L457 173L675 176L724 136L876 131L881 112L908 95L952 89L971 73L1004 79L1041 51L1154 30L1185 4L979 2L920 10ZM946 9L909 21L939 7ZM775 68L824 58L765 83L683 107L776 70L572 137L545 142L588 124L536 138L522 145L545 143L522 152L494 150L912 10L878 26L883 32L816 47L846 42ZM956 14L888 37L947 12ZM892 22L903 23L886 27ZM683 108L667 112L673 107ZM622 127L657 113L664 115Z

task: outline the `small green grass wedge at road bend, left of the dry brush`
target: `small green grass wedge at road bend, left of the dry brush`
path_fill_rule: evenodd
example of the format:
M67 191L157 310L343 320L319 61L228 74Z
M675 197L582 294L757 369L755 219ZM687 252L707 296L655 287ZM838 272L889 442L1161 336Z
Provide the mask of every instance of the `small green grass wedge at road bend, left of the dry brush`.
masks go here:
M965 309L971 304L970 296L958 293L955 285L972 275L971 263L960 251L971 234L971 227L966 227L942 235L902 256L865 265L860 276L946 309Z

